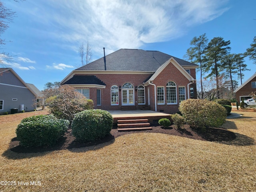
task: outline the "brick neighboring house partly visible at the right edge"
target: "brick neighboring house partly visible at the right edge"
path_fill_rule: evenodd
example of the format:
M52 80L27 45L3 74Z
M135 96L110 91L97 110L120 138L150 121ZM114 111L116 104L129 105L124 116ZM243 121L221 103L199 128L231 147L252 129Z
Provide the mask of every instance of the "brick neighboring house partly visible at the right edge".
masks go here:
M254 91L256 91L256 73L234 90L234 93L236 93L236 100L240 102L243 98L244 100L251 98L249 94Z

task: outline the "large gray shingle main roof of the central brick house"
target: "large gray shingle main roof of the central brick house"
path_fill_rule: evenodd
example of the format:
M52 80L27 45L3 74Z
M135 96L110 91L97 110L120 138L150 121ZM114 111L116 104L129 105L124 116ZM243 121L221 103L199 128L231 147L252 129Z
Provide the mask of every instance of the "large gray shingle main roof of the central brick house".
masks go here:
M197 66L196 64L159 51L145 51L142 49L120 49L106 56L106 70L154 72L171 57L173 57L181 66ZM104 59L102 57L76 70L104 69Z

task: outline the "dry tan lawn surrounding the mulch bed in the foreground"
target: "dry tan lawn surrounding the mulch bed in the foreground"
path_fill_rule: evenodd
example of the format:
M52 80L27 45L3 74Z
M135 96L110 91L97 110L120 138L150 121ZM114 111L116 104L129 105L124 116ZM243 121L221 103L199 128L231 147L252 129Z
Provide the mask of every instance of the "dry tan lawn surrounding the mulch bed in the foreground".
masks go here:
M236 134L229 142L134 133L96 146L38 153L8 150L21 119L0 116L0 180L6 181L0 191L254 192L256 112L237 113L243 116L223 125Z

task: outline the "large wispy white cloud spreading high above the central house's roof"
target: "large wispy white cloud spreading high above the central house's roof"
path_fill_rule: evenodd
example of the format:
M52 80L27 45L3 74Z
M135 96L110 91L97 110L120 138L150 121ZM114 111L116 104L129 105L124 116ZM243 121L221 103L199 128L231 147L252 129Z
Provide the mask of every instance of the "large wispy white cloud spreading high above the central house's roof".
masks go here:
M178 38L186 34L189 27L223 14L228 10L226 2L228 0L49 0L39 5L31 2L36 8L28 12L37 22L42 22L45 30L51 29L40 33L60 39L60 46L70 43L77 46L88 40L94 52L102 53L106 47L109 54L120 48L140 48L145 43Z

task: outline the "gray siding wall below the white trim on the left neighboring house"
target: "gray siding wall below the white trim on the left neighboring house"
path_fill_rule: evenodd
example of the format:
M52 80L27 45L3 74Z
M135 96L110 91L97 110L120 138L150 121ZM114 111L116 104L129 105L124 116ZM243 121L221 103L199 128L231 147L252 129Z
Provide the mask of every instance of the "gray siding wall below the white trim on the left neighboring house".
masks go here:
M12 99L17 99L13 101ZM4 100L4 108L0 110L0 113L10 112L12 108L18 108L20 111L20 105L24 104L25 111L34 110L34 100L36 97L26 87L16 87L0 84L0 100Z

